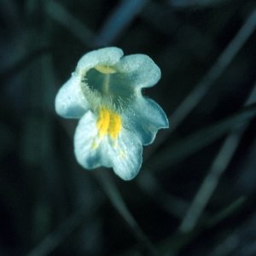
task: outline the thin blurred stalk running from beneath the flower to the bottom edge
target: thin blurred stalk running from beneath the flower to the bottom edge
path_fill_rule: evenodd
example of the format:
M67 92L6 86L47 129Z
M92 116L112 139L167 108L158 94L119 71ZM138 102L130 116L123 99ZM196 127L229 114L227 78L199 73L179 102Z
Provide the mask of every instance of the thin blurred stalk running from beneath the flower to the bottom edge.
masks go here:
M147 249L147 255L158 255L156 249L154 248L154 245L148 239L148 236L144 234L141 227L137 224L136 219L133 218L131 212L126 207L125 201L123 200L122 196L119 193L119 190L113 183L112 178L109 177L107 172L104 171L106 170L102 170L102 168L100 168L96 170L94 174L96 175L96 178L99 180L99 182L102 184L102 187L108 195L108 198L112 202L113 207L115 207L119 214L125 219L125 222L129 225L137 240L141 242L145 249Z

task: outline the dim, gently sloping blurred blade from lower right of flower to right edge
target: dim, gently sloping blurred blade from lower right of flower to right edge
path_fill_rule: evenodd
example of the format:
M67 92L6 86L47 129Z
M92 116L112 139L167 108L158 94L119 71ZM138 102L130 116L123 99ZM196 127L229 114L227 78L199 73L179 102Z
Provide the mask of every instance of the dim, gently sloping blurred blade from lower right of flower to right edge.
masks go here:
M183 160L190 154L194 154L201 148L207 147L207 145L224 136L232 128L243 126L248 120L253 119L255 115L256 103L253 103L242 108L241 111L231 117L181 139L178 143L166 148L163 153L156 154L154 159L149 162L150 168L160 171L177 161Z

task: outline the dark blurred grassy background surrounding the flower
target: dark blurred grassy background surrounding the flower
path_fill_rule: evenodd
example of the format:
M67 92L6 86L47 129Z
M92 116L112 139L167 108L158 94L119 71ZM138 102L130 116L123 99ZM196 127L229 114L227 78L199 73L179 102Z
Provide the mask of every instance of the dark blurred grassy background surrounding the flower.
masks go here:
M253 0L2 0L0 255L256 255ZM171 128L131 182L83 170L57 90L91 49L149 55ZM248 100L249 99L249 100ZM247 105L247 106L245 106Z

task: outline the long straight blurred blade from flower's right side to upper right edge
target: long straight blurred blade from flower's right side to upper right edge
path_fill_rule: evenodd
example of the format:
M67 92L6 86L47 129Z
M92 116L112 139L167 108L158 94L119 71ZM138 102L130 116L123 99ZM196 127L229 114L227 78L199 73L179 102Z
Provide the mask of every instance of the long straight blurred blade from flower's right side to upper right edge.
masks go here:
M184 98L183 102L177 107L174 113L170 116L171 127L162 133L156 143L149 148L147 151L147 157L154 153L156 148L160 146L161 143L166 141L166 137L174 131L178 125L183 122L189 113L196 107L196 105L201 101L201 99L207 94L207 91L215 83L215 81L224 73L224 70L230 65L230 62L235 58L236 54L239 52L241 47L247 42L247 39L255 31L256 27L256 9L253 10L252 14L249 15L244 25L236 33L235 38L233 38L224 49L221 55L218 56L217 61L212 65L208 73L201 79L199 84L189 93L187 97Z

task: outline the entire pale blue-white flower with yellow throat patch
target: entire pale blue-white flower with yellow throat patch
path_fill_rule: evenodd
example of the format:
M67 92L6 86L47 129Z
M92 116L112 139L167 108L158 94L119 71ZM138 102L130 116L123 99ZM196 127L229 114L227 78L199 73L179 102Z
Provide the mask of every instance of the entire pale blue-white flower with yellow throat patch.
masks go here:
M80 119L74 152L81 166L113 167L124 180L137 175L143 145L168 127L162 108L141 92L159 79L160 68L147 55L123 56L116 47L93 50L79 60L55 98L55 110Z

